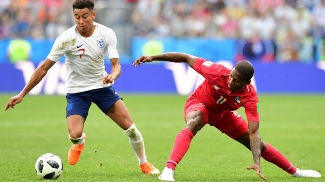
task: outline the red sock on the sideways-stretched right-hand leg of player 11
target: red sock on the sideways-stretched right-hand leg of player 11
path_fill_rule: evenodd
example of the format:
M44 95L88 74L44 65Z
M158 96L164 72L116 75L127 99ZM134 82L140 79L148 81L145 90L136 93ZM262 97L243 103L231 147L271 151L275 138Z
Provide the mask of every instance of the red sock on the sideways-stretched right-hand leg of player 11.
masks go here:
M272 145L265 143L266 148L262 152L261 156L268 162L277 165L279 168L283 169L289 174L296 173L297 169L294 165L288 161L278 150L276 150Z

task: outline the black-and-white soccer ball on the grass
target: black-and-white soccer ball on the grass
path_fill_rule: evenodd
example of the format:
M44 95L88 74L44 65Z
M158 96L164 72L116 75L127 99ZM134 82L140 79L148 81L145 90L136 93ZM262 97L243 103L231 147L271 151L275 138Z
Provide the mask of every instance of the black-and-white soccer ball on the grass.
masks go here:
M36 160L35 170L39 177L55 180L61 176L63 164L59 156L47 153Z

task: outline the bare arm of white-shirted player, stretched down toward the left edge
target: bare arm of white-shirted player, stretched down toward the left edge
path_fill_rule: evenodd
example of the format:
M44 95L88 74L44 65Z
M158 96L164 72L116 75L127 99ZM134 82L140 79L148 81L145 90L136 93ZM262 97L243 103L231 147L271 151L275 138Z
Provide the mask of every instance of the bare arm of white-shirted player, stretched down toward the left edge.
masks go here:
M20 91L19 94L11 97L7 104L4 107L4 110L6 111L9 107L14 108L14 105L17 103L20 103L23 97L31 91L47 74L47 71L55 64L56 62L51 61L46 58L46 60L39 65L36 70L34 71L33 75L30 77L28 83L26 86Z

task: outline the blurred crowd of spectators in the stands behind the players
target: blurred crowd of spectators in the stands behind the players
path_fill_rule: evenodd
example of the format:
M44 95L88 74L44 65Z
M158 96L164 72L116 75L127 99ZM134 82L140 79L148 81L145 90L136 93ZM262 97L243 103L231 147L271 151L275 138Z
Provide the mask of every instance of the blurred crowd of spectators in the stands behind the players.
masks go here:
M126 14L130 21L120 22L132 31L130 36L248 41L254 32L263 42L276 42L279 48L283 47L281 42L294 36L300 41L291 47L297 49L297 59L304 62L316 59L312 53L314 40L325 37L325 21L320 18L325 17L325 0L115 1L130 4L125 6L129 8ZM14 32L22 31L33 39L54 38L74 24L73 15L65 9L71 3L72 0L1 0L0 38L14 38ZM287 56L277 55L278 59L284 57Z

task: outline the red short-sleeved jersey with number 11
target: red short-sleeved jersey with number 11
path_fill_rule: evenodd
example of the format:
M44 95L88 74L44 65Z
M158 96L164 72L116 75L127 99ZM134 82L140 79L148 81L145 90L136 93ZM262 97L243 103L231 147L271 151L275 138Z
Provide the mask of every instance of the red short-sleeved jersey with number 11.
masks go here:
M248 120L259 121L258 97L251 84L239 91L230 91L228 82L231 70L202 58L196 60L193 68L205 78L205 81L189 99L199 99L207 109L215 113L233 111L243 106Z

